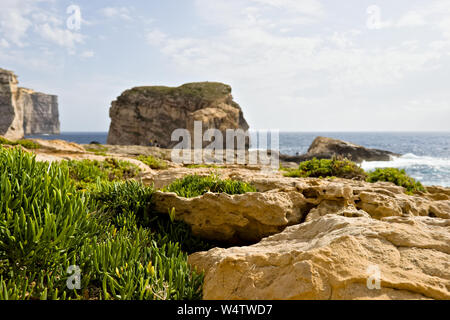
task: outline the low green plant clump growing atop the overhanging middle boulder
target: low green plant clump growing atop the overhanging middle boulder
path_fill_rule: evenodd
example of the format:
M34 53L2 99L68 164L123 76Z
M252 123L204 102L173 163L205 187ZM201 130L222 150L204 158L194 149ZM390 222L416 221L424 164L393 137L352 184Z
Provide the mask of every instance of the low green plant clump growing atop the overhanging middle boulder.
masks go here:
M193 198L207 192L244 194L256 192L256 188L248 183L231 179L222 180L217 175L202 177L189 175L174 181L163 189L164 192L175 192L180 197Z

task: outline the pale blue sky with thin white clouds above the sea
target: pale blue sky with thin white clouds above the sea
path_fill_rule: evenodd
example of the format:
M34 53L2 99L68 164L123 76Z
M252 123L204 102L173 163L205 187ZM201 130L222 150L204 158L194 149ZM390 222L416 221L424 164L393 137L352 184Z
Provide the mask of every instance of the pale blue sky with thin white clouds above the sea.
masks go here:
M0 68L108 131L124 90L219 81L251 129L449 131L448 0L0 1Z

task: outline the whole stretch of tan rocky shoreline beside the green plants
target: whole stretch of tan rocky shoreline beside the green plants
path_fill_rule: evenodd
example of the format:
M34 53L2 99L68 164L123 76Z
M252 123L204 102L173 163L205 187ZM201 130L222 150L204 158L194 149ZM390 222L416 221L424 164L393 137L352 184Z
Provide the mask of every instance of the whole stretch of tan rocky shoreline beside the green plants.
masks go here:
M204 299L450 299L450 189L409 195L388 182L289 178L262 166L188 168L168 150L42 142L40 161L117 158L139 164L156 188L187 175L252 184L242 195L206 193L186 199L157 191L154 209L184 221L196 236L227 244L189 257L205 271ZM103 146L104 147L104 146ZM167 161L154 170L136 154ZM239 245L239 247L230 247ZM368 286L371 268L380 288Z

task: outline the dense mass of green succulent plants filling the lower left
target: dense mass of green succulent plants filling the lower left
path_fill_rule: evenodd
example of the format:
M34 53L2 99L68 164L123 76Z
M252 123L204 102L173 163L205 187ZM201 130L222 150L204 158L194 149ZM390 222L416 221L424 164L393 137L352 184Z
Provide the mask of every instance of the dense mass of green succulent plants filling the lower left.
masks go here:
M71 168L0 147L0 299L201 298L180 242L208 245L150 211L153 189L100 174L79 192Z

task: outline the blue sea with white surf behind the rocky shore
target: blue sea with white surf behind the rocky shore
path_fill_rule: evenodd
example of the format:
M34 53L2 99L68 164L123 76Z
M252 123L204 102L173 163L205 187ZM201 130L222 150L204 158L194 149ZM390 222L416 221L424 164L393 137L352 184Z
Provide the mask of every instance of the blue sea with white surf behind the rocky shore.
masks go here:
M106 144L107 136L107 132L62 132L60 135L27 138ZM402 154L392 161L363 162L361 166L365 170L386 167L405 169L425 185L450 187L450 132L280 132L280 152L288 155L306 153L318 136Z

